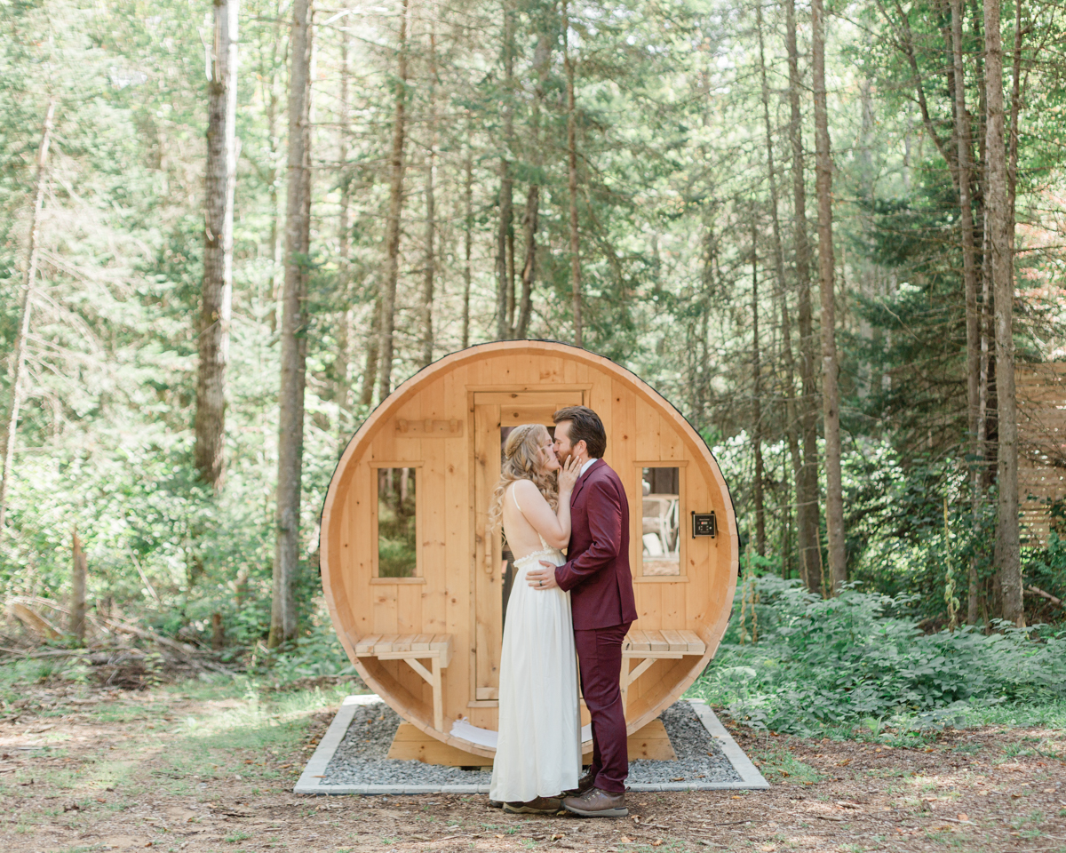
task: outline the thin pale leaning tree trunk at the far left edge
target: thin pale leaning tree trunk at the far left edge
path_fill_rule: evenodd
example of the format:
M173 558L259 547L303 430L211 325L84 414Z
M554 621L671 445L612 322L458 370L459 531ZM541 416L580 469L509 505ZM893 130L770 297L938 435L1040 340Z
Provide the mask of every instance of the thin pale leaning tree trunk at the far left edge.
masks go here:
M22 404L22 374L26 371L26 338L30 334L30 316L33 313L33 299L37 289L37 255L39 247L41 210L45 206L45 188L48 183L45 166L48 163L48 146L52 138L52 118L55 116L55 99L48 102L45 124L41 130L37 146L37 176L33 191L33 208L30 210L29 245L26 251L26 286L22 290L22 310L15 337L15 351L11 358L11 411L7 413L7 440L3 450L3 479L0 479L0 536L3 536L7 516L7 489L11 487L12 467L15 465L15 442L18 436L18 411Z

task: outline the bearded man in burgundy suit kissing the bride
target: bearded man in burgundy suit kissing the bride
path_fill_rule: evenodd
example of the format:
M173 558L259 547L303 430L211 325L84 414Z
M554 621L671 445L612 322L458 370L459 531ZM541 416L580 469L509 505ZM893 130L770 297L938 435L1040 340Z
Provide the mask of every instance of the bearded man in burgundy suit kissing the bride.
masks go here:
M552 419L559 461L576 456L582 463L570 496L570 544L564 565L542 560L543 567L526 577L535 589L570 591L581 692L593 728L592 767L563 806L588 818L621 818L629 814L629 754L618 678L621 644L636 618L629 502L618 474L602 460L607 433L599 415L585 406L567 406Z

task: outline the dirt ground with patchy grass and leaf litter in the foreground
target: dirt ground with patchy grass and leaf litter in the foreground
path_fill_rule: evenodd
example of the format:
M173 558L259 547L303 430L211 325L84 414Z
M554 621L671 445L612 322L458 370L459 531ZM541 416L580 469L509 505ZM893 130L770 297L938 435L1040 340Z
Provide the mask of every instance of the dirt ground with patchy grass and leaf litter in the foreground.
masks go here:
M337 694L181 691L45 686L4 703L0 850L1066 853L1062 730L902 749L734 731L769 791L631 793L627 819L523 818L485 796L297 796Z

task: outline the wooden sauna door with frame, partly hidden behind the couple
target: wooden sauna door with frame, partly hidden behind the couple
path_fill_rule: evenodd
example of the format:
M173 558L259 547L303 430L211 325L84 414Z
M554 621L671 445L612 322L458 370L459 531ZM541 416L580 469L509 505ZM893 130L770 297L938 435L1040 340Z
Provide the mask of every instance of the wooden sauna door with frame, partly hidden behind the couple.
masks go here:
M492 705L499 697L500 644L503 613L511 592L510 553L499 532L487 534L488 504L500 479L503 442L521 423L543 423L552 432L551 415L564 406L584 404L584 392L571 391L474 391L474 695L475 702Z

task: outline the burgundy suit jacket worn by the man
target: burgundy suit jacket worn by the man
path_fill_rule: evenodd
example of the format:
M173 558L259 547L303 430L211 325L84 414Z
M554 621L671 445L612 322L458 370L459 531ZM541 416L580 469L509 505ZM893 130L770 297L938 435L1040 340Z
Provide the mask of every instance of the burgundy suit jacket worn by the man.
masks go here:
M597 460L570 496L570 546L555 580L570 591L575 630L634 622L629 568L629 501L611 467Z

